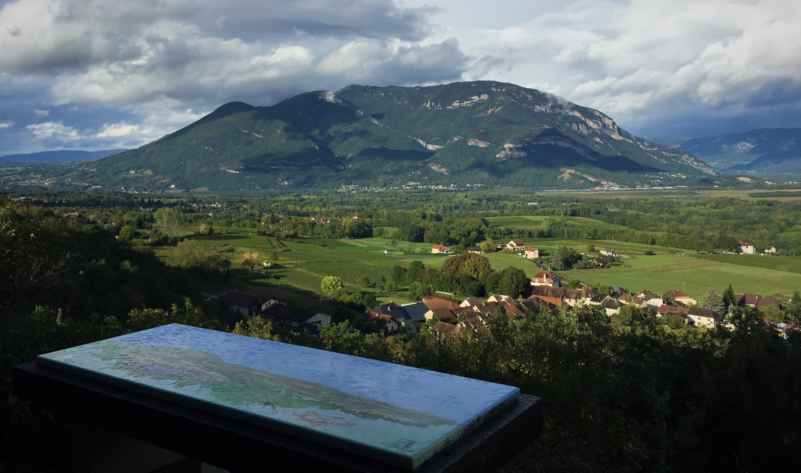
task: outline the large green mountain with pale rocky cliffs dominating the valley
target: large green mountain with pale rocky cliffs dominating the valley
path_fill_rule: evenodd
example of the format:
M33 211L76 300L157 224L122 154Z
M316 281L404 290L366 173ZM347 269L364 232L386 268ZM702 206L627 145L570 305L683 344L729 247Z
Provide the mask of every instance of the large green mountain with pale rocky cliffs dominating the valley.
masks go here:
M231 102L136 150L55 176L137 190L301 186L648 185L714 175L598 110L491 81L347 86L274 106Z

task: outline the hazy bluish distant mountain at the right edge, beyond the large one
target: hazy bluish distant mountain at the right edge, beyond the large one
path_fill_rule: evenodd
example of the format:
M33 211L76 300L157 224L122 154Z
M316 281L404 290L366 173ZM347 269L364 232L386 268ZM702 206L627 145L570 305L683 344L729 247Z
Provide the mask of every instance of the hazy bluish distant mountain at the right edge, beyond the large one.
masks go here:
M706 159L720 172L801 173L801 128L760 128L691 138L678 147Z

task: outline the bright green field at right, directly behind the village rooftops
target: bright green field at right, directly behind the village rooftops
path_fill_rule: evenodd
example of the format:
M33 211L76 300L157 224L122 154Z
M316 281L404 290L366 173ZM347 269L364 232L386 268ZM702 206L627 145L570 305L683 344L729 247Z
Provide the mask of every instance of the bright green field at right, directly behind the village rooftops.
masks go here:
M638 255L625 261L630 267L572 270L562 274L592 285L626 287L631 292L649 289L662 294L678 289L696 299L706 297L710 287L722 294L729 284L740 294L749 292L765 296L791 295L795 289L801 289L801 275L787 271L682 255Z

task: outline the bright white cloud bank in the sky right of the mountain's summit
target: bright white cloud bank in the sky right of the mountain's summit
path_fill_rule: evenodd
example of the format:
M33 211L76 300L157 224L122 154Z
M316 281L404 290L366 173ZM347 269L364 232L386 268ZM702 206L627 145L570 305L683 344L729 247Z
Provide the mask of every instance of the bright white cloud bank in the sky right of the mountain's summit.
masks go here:
M635 130L770 118L771 107L801 126L801 2L540 0L545 13L491 30L460 16L487 14L480 6L435 3L473 58L466 78L533 86Z

